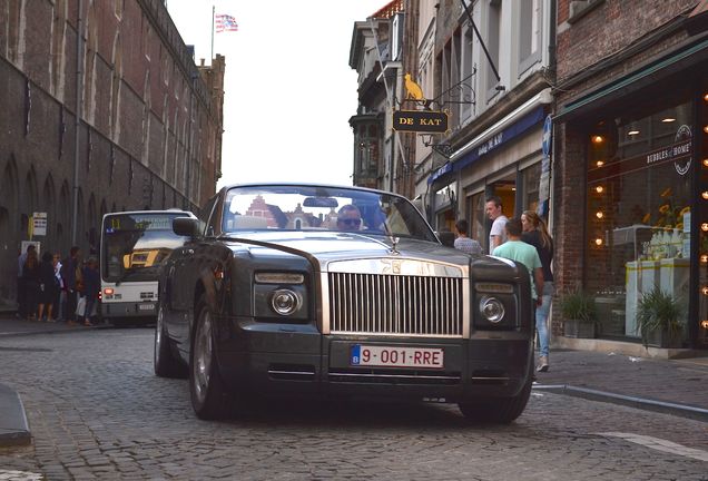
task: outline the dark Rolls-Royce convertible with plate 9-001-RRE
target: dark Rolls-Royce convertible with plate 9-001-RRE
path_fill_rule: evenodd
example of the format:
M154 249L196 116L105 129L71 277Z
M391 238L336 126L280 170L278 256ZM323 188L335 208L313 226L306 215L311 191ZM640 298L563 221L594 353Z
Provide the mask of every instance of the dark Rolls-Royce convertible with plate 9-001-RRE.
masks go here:
M508 423L533 377L529 275L441 244L416 207L356 187L223 188L163 265L155 373L200 419L256 396L458 403Z

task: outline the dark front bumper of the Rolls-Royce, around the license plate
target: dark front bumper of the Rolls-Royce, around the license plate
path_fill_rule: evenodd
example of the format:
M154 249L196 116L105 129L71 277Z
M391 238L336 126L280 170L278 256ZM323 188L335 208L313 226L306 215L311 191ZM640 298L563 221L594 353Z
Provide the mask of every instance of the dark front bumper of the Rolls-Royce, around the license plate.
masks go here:
M473 333L470 340L322 335L313 325L223 320L219 373L239 393L275 396L465 402L519 394L531 373L530 334ZM442 349L441 369L352 364L356 344Z

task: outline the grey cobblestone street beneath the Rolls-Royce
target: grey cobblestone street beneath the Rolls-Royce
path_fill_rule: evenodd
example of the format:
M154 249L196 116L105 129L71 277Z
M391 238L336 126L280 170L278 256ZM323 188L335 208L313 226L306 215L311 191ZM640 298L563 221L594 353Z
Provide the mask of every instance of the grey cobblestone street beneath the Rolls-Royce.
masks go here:
M153 374L153 330L0 340L31 446L0 479L681 479L708 474L708 424L534 391L509 426L454 405L268 403L204 422Z

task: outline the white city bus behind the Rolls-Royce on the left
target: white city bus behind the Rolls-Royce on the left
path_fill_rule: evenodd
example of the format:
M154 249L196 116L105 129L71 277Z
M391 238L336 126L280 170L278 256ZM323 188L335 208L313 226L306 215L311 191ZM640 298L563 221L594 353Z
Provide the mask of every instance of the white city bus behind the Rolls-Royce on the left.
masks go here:
M101 317L115 326L157 315L159 269L184 237L173 232L187 210L134 210L104 215L100 244Z

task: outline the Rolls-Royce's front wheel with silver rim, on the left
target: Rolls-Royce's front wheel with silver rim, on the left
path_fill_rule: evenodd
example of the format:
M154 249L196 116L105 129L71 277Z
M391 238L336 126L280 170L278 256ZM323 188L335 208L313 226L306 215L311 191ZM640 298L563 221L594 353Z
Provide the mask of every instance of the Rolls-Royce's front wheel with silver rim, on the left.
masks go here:
M216 362L214 328L214 317L203 296L197 304L189 362L191 406L197 418L203 420L225 418L229 409L229 395Z

